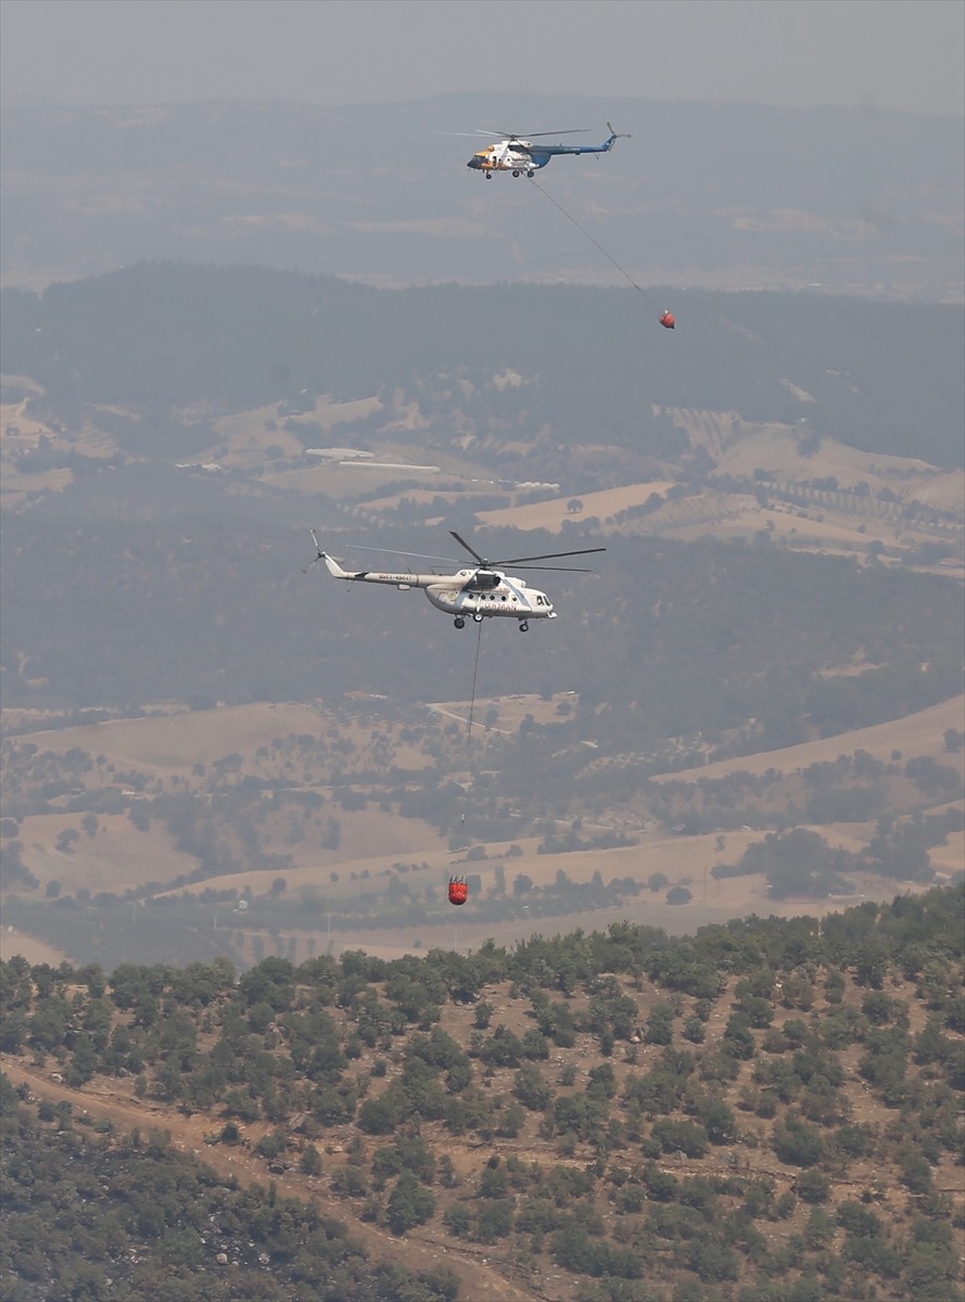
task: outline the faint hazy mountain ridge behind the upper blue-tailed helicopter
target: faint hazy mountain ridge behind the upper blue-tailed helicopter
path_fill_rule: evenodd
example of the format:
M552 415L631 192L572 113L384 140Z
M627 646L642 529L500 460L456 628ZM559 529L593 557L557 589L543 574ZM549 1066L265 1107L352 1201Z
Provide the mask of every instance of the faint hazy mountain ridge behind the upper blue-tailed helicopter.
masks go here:
M484 185L457 132L604 122L547 187L642 284L962 299L962 122L746 104L445 95L4 113L5 284L141 258L253 262L375 284L566 280L612 266L525 180Z

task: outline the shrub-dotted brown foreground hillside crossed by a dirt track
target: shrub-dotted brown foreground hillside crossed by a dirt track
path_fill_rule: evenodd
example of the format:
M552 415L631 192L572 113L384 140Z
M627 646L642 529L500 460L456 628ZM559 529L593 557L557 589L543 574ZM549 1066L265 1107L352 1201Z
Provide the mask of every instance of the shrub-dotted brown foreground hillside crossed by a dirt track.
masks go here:
M177 1262L186 1299L247 1295L251 1271L362 1299L332 1269L365 1250L423 1272L422 1293L374 1295L427 1302L948 1302L961 909L958 885L820 926L615 924L240 980L224 960L12 958L4 1295L65 1281L82 1236L87 1286L138 1297L160 1295L150 1258Z

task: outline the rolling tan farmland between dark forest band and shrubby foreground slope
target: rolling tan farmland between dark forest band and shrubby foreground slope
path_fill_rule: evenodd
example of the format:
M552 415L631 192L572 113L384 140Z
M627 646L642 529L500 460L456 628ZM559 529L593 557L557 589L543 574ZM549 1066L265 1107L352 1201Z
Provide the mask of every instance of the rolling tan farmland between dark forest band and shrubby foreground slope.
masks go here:
M697 769L698 738L590 741L603 706L580 693L475 710L471 738L465 700L168 704L74 727L8 710L4 954L26 935L108 966L389 957L590 914L678 934L802 901L822 915L961 866L961 697ZM452 872L471 883L458 915Z

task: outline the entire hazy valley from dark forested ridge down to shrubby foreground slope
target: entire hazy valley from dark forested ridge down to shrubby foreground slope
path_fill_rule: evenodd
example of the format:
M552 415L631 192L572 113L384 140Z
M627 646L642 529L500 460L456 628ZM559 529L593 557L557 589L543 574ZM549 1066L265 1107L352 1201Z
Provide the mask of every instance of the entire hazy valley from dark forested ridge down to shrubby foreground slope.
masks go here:
M12 924L247 966L456 944L457 866L460 948L953 871L960 314L693 293L641 349L637 298L163 264L5 294ZM461 565L452 529L607 552L474 642L301 574L309 525L353 568Z

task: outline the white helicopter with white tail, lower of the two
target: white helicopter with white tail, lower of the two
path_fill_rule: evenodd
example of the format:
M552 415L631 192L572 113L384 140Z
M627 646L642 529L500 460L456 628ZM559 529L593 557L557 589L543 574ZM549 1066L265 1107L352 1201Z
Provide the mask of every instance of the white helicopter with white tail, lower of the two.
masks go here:
M475 566L457 570L455 574L393 574L383 570L344 570L328 552L322 551L313 529L311 540L318 555L314 561L305 566L303 573L307 573L319 561L324 561L329 574L345 579L348 583L389 583L402 592L410 587L425 589L426 596L438 611L453 616L452 622L457 629L465 628L468 618L477 624L490 618L509 618L518 621L520 633L526 633L530 620L556 618L553 604L546 592L530 587L525 579L504 574L497 566L517 565L520 569L589 574L590 570L569 565L534 565L531 562L557 560L563 556L587 556L590 552L606 552L607 549L606 547L583 547L574 552L547 552L543 556L514 556L510 560L490 561L458 534L452 533L452 536L477 561ZM421 556L419 552L409 552L408 555ZM444 560L439 556L423 556L422 559Z

